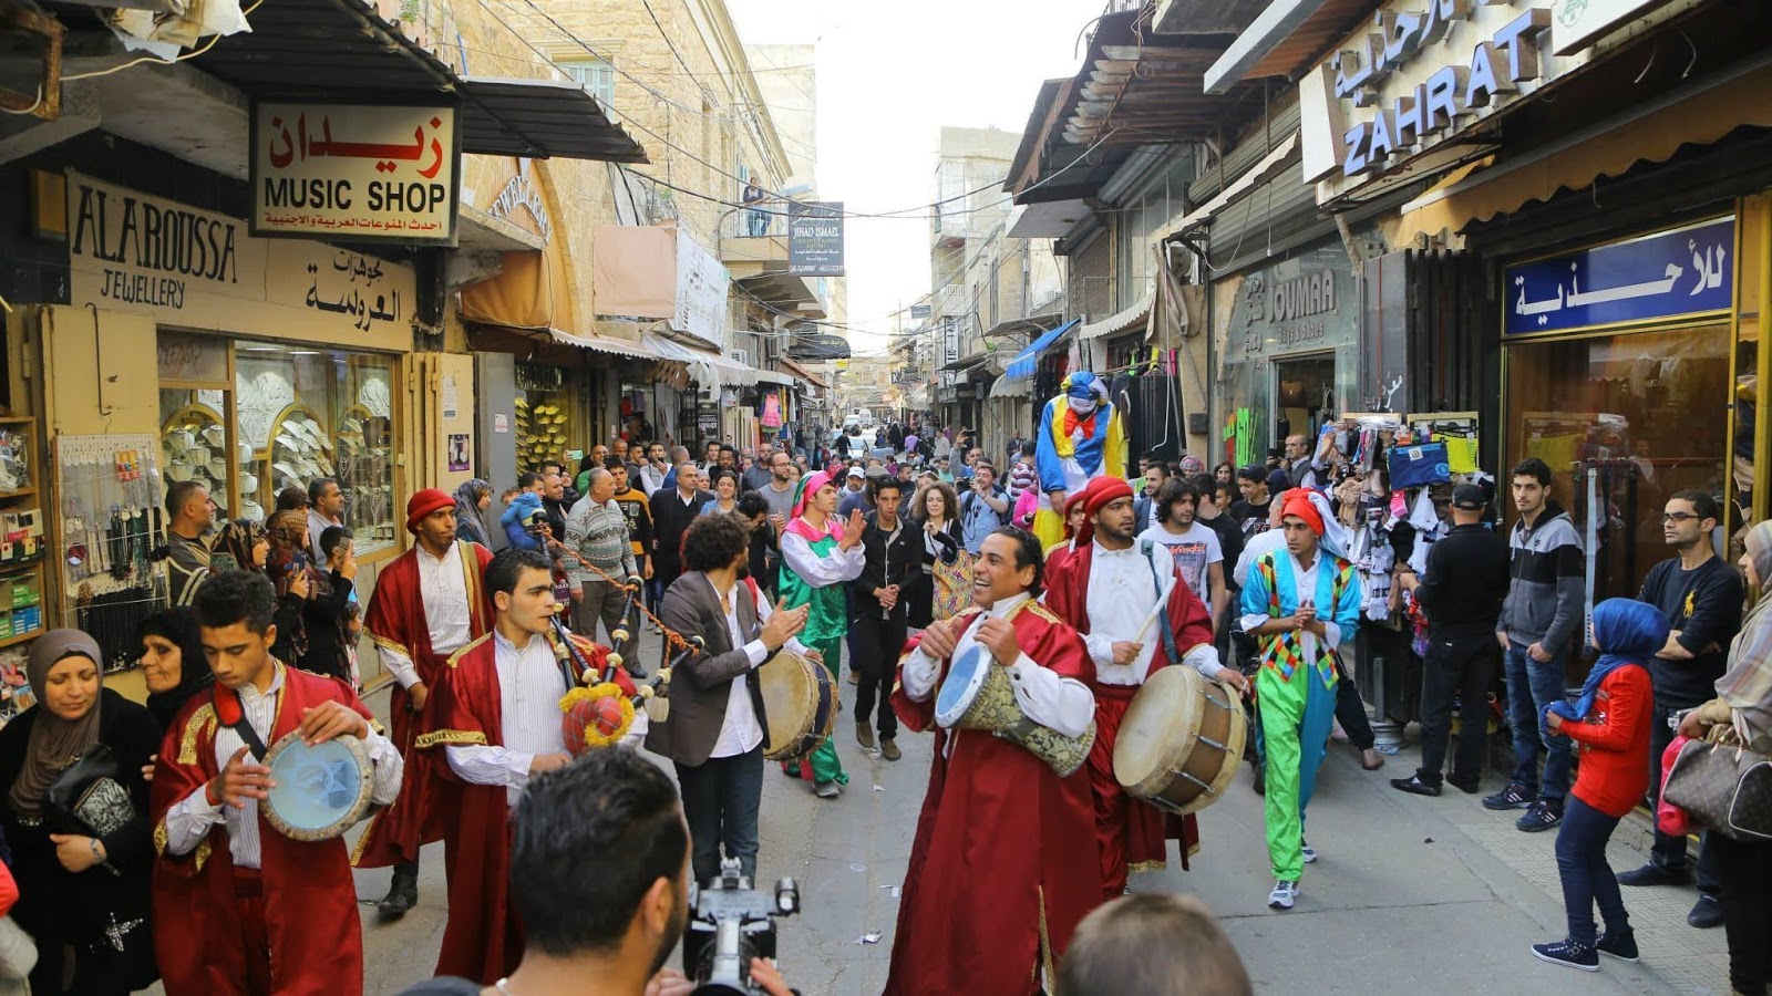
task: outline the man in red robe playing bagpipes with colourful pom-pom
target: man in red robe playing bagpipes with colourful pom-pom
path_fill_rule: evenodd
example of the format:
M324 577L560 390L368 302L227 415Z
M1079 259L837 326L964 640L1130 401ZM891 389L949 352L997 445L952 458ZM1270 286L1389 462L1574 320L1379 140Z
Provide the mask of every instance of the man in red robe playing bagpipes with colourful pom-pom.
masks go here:
M510 813L533 774L565 767L560 698L583 681L602 681L608 650L572 636L583 661L555 650L553 560L539 549L503 549L486 567L493 594L493 633L457 650L436 673L418 735L418 764L457 790L443 840L448 870L448 925L434 975L491 985L523 959L523 925L510 906ZM622 696L634 686L622 668L613 681ZM592 684L595 684L592 682ZM645 735L647 718L633 718L622 743ZM443 755L443 757L436 757Z

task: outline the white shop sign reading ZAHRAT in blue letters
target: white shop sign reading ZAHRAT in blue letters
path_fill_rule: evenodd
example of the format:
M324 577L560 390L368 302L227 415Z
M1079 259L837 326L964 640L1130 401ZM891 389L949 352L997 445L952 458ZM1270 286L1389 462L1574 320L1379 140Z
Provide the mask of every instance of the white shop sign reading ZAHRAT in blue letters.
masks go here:
M1451 144L1588 62L1550 51L1552 0L1393 0L1299 80L1304 181L1318 200L1405 163L1469 154Z

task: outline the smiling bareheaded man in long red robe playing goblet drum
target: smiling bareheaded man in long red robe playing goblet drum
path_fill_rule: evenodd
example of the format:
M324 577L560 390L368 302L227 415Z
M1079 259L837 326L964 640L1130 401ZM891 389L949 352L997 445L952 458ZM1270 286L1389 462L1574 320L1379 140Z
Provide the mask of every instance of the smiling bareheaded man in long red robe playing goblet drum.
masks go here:
M936 727L950 661L978 649L1012 681L1015 702L1067 737L1095 718L1095 665L1074 629L1035 597L1040 541L1005 526L973 567L973 604L930 626L898 661L893 709L936 732L929 794L916 821L886 996L1030 996L1077 922L1100 904L1090 778L1060 778L1026 748L983 730Z

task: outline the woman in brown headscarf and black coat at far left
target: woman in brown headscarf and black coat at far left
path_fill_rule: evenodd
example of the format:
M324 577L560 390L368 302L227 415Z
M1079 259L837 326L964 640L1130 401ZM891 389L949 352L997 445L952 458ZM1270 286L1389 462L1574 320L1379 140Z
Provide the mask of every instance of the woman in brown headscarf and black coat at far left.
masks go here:
M142 767L159 748L152 714L103 684L99 645L51 629L27 661L37 704L0 728L0 828L12 847L12 918L37 941L32 992L122 994L154 978L149 875L154 845ZM44 806L57 776L94 746L110 748L128 794L120 826L94 836ZM73 962L69 966L69 961ZM64 985L64 978L73 982Z

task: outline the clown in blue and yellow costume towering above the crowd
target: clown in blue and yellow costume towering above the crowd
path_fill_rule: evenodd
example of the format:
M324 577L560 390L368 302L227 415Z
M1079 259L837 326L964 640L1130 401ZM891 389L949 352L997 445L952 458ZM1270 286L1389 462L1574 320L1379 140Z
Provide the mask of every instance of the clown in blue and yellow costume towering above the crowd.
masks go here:
M1125 424L1108 401L1108 385L1088 370L1076 370L1060 386L1063 393L1040 411L1033 447L1040 477L1033 535L1042 546L1065 539L1060 517L1065 494L1081 491L1097 477L1125 477Z

